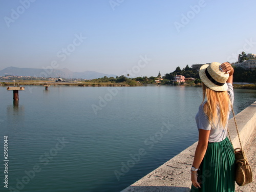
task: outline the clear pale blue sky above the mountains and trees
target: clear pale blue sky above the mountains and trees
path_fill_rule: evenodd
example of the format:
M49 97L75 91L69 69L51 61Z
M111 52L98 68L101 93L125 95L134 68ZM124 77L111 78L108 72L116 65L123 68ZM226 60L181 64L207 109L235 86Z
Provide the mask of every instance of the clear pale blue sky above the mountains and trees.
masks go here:
M57 61L55 67L76 72L121 75L136 68L135 76L149 77L236 61L242 50L256 54L254 0L30 1L0 3L0 70ZM145 55L151 60L138 71Z

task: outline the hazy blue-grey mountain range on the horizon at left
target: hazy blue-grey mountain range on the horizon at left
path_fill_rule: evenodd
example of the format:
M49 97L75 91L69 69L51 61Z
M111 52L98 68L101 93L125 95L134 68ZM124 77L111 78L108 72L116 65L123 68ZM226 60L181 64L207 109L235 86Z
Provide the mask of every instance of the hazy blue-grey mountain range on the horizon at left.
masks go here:
M33 68L16 68L8 67L0 71L0 76L14 75L14 76L33 76L33 77L61 77L67 79L96 79L101 77L116 77L117 75L108 75L104 73L98 73L96 71L84 71L84 72L73 72L64 69L33 69Z

